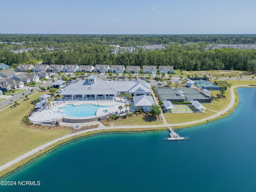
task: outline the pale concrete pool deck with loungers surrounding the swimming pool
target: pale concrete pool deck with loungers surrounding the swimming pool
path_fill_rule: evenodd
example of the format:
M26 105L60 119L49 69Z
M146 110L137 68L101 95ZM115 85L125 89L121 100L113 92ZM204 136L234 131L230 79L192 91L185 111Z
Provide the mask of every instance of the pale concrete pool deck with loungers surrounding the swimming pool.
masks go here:
M30 116L30 120L32 121L44 121L46 120L46 118L43 118L43 115L44 114L51 114L52 112L56 112L56 113L59 113L56 114L56 117L55 118L58 118L60 116L64 116L65 114L63 112L63 110L58 110L58 108L62 108L62 107L65 107L66 105L68 104L73 104L75 106L78 106L78 105L81 105L81 104L94 104L94 105L100 105L100 106L106 106L104 108L100 108L100 110L98 110L96 112L96 115L100 115L100 114L104 114L104 112L102 112L102 110L108 110L109 112L120 112L120 110L118 110L118 106L123 106L123 109L122 110L125 110L125 107L124 105L127 104L128 101L125 102L124 99L122 99L120 101L120 98L116 99L116 100L113 100L113 101L95 101L95 100L89 100L89 101L64 101L64 102L57 102L57 101L54 101L54 104L53 102L51 102L51 106L46 106L44 110L42 110L41 112L35 112L34 114L32 114ZM108 106L112 106L112 105L116 105L116 108L108 108ZM128 109L128 108L127 108ZM94 116L92 116L94 117ZM49 119L49 118L48 118Z

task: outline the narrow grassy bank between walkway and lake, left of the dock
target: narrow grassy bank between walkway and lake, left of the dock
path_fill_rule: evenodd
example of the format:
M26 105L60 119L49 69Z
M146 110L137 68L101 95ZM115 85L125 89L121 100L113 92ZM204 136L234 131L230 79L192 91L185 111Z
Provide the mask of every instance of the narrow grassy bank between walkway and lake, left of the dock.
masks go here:
M52 150L53 148L56 148L57 146L60 146L62 144L65 144L66 142L72 141L72 140L76 140L78 138L82 138L85 136L91 136L93 134L101 134L101 133L113 133L113 132L142 132L142 131L152 131L152 130L166 130L166 127L158 127L158 128L136 128L136 129L110 129L110 130L98 130L98 131L91 131L91 132L87 132L84 134L79 134L76 136L72 136L70 138L64 139L64 140L60 140L59 142L56 142L54 144L52 144L51 146L48 146L46 148L44 148L44 150L40 150L39 152L21 160L20 162L18 162L17 164L10 166L9 168L3 170L0 172L0 177L12 172L13 170L19 168L20 166L28 163L29 161L33 160L34 158L44 154L45 152L48 152L50 150Z

